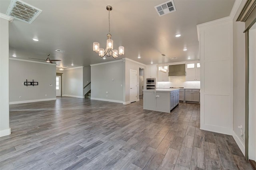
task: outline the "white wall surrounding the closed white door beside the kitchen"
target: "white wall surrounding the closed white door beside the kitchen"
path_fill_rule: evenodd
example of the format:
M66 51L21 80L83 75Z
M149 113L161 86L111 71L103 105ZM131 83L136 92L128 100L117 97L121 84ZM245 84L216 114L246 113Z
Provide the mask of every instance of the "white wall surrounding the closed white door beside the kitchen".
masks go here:
M130 69L137 71L137 101L139 101L139 73L140 68L146 69L146 65L138 63L131 59L125 58L125 103L128 104L130 101ZM145 79L145 77L144 77ZM144 80L145 82L145 80Z

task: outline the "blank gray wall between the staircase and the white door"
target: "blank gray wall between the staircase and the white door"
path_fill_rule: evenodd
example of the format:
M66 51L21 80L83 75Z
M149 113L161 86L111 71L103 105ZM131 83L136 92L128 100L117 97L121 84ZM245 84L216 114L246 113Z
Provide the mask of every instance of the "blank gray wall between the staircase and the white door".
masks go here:
M91 99L123 101L125 65L123 60L116 61L91 65Z

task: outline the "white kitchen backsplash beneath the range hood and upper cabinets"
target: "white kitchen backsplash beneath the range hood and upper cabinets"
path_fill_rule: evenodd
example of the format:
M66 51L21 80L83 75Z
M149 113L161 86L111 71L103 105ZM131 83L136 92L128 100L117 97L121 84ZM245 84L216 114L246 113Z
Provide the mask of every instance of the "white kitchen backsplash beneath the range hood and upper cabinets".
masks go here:
M157 82L156 88L184 87L200 89L200 81L186 81L185 76L170 76L170 82Z

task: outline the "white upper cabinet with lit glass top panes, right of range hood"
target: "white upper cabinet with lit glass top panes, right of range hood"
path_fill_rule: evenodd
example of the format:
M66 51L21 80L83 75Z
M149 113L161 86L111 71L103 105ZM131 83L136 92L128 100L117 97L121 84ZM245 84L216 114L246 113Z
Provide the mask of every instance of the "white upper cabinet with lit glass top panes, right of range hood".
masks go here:
M189 61L186 63L186 81L200 81L199 61Z

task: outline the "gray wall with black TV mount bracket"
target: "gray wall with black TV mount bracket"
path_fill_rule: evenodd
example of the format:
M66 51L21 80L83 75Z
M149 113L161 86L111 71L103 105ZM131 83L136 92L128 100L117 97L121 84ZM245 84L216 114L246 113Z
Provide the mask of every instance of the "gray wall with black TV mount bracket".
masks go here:
M22 85L26 79L28 81L34 79L34 81L38 82L38 85ZM56 65L10 58L9 95L9 101L14 103L56 99ZM21 99L19 98L20 96L22 97Z

